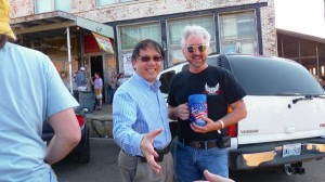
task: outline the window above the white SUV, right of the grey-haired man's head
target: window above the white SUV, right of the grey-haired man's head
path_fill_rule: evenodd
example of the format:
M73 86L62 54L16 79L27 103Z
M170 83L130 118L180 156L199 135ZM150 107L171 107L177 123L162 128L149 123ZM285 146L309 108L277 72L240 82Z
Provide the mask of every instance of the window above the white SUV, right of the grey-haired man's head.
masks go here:
M258 54L255 12L220 15L221 53Z

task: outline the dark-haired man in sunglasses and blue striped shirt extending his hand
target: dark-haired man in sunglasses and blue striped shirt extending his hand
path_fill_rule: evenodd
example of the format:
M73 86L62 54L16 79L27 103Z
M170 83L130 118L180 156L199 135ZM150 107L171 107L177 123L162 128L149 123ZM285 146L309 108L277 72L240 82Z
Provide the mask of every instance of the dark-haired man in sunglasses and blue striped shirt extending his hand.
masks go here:
M114 95L113 135L121 147L118 165L125 182L173 181L167 105L157 80L164 56L157 42L139 42L132 54L135 74Z

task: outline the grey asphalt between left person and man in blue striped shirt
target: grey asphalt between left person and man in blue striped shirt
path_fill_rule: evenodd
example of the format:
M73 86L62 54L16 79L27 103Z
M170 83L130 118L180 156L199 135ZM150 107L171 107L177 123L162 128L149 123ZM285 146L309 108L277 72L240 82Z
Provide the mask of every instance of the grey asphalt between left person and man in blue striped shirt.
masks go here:
M78 164L67 157L53 165L60 182L121 182L117 166L120 148L112 139L90 139L90 161Z

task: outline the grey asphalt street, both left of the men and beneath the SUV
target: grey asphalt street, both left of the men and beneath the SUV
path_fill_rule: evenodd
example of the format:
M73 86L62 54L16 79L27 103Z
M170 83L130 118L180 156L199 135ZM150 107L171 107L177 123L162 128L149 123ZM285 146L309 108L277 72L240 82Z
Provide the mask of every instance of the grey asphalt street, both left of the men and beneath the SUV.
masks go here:
M53 166L60 182L120 182L117 167L119 147L112 139L90 140L91 160L88 165L79 165L69 158ZM306 174L286 176L275 171L240 171L231 172L237 182L324 182L325 160L304 162Z

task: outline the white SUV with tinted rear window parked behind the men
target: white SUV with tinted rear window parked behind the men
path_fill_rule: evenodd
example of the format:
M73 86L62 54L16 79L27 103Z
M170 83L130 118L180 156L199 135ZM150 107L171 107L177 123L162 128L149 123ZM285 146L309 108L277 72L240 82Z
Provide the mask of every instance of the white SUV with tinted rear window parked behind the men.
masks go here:
M247 117L226 129L230 169L304 173L303 161L325 157L324 90L303 66L239 54L209 55L207 63L231 72L247 92ZM158 75L166 96L171 77L183 69L188 69L186 62Z

